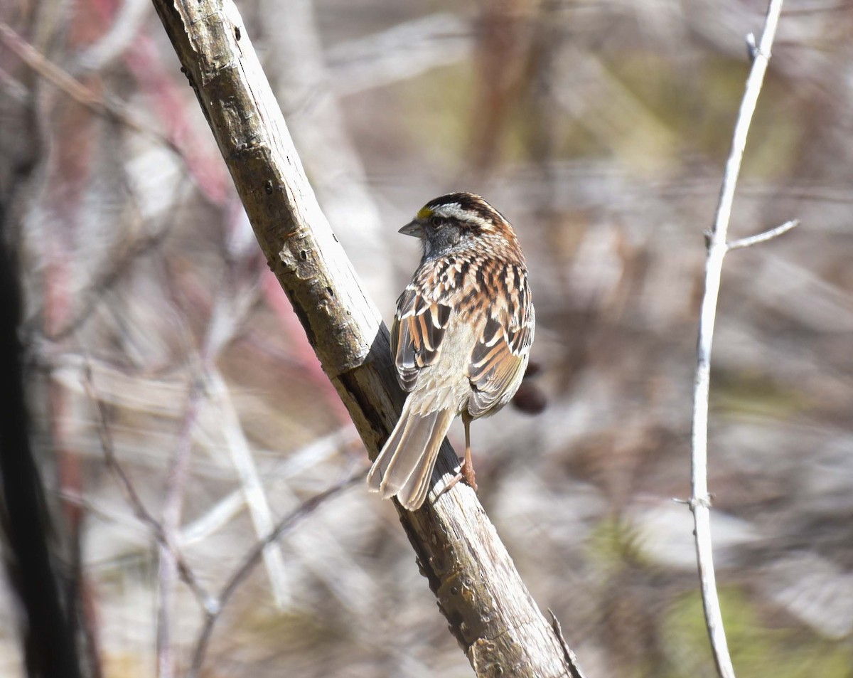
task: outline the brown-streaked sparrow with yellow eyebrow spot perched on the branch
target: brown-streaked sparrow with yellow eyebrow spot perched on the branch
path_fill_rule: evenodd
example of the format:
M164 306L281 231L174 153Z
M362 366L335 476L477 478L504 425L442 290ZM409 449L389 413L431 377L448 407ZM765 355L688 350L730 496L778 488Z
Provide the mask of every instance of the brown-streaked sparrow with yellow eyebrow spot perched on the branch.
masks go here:
M439 196L399 232L419 237L423 251L391 329L397 381L408 395L368 472L368 489L415 511L460 415L465 458L441 494L462 478L477 491L470 424L500 410L519 389L536 316L519 239L482 196Z

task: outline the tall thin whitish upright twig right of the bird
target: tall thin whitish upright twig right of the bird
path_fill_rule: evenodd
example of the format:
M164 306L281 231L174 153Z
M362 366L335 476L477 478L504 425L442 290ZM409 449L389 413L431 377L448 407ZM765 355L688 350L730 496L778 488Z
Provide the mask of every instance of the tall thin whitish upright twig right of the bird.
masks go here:
M711 639L711 650L717 673L722 678L734 678L734 667L728 653L728 643L722 627L720 600L714 575L711 550L711 497L708 494L708 392L711 381L711 341L717 316L717 298L720 291L722 259L728 252L726 237L731 218L734 189L740 174L740 163L746 146L746 135L755 112L758 94L770 58L782 0L770 0L761 43L754 51L752 67L746 79L746 91L740 102L740 112L734 126L732 147L722 178L720 200L714 226L708 234L708 253L705 260L705 295L699 313L699 342L697 346L696 377L693 386L693 432L691 457L691 489L688 502L693 511L696 537L696 558L699 565L699 582L702 604L705 607L705 624Z

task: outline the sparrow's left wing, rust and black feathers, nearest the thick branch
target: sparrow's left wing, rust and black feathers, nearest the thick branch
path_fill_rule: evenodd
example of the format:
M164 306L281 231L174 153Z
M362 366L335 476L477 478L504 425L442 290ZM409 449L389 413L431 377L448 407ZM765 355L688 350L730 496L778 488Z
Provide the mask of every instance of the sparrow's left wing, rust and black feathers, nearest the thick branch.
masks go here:
M415 388L418 372L438 359L450 307L427 299L414 283L397 299L391 326L391 350L397 365L397 381L403 390Z

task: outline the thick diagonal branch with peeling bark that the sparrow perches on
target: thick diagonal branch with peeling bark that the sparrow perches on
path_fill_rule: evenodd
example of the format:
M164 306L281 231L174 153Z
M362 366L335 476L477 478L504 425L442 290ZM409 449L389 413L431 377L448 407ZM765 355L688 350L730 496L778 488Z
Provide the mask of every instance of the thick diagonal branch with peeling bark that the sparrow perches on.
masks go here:
M270 269L374 457L403 404L387 330L317 205L241 17L230 0L153 1ZM445 442L436 472L455 465ZM477 675L572 675L470 488L397 510Z

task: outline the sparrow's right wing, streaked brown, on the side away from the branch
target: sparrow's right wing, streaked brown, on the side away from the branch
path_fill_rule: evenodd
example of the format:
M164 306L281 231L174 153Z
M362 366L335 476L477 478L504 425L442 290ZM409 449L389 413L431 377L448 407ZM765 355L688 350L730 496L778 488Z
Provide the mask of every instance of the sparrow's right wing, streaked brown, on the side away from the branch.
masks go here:
M468 413L473 418L507 404L518 390L530 355L535 315L524 270L510 266L505 278L492 280L505 285L493 296L485 324L474 344L468 365L473 393ZM509 286L507 281L511 281Z

